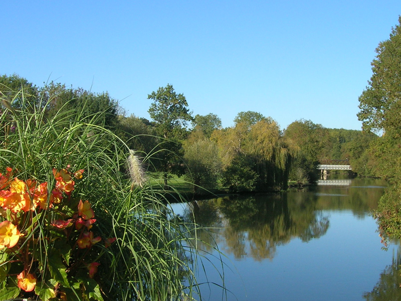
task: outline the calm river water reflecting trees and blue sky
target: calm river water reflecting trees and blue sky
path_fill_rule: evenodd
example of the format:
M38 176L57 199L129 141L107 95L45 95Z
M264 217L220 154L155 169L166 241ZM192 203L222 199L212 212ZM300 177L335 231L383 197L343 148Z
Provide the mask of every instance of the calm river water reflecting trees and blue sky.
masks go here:
M200 245L206 258L198 279L221 284L224 272L228 291L204 284L202 298L401 300L399 243L392 241L383 250L369 215L385 183L327 184L307 192L173 205L182 218L194 217L211 229L196 233L207 242ZM224 256L210 246L214 242Z

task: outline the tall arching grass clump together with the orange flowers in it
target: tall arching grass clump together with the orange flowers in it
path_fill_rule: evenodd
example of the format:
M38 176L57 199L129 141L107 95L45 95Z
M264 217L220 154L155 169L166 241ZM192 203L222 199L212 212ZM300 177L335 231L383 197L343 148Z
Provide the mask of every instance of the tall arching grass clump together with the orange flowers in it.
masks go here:
M26 96L0 95L0 300L198 294L193 225L147 185L135 153L96 125L101 113L47 119L52 100Z

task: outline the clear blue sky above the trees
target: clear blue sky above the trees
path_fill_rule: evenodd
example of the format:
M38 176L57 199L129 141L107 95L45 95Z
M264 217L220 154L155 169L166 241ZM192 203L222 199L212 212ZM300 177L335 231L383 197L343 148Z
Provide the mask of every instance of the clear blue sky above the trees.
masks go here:
M2 2L0 74L108 91L149 118L172 84L193 114L360 129L358 96L401 1Z

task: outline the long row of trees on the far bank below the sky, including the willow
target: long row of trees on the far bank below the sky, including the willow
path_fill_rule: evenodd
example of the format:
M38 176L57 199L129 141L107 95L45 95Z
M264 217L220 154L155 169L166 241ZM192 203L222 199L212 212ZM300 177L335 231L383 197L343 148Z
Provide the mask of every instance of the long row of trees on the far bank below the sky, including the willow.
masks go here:
M333 159L349 159L354 173L376 176L367 152L377 140L371 132L329 129L310 120L294 121L282 130L272 117L254 111L238 113L234 126L223 128L216 114L193 116L185 96L169 84L148 95L150 121L126 116L107 92L54 82L37 87L18 75L1 76L0 92L16 108L30 103L43 109L46 104L49 120L57 114L108 128L146 158L147 171L160 173L165 185L169 178L183 176L194 193L199 187L278 191L289 181L313 183L316 165Z

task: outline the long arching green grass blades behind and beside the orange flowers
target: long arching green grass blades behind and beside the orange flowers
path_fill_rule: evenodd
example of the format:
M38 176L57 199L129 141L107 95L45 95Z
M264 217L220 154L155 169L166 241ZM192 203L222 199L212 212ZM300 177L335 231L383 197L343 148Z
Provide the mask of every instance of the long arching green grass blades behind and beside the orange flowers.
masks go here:
M196 226L183 223L168 209L169 192L161 185L156 188L158 180L132 186L124 172L129 149L109 129L95 125L101 113L85 116L83 122L83 110L76 120L64 110L48 120L46 108L52 100L34 106L19 91L10 103L17 101L20 109L3 108L0 113L0 172L10 166L21 179L54 183L53 168L85 170L77 197L92 203L94 231L117 238L112 247L98 250L96 280L103 298L178 300L183 292L199 295L194 276L199 255L195 247L188 247L196 246L197 238L190 234ZM190 188L181 179L169 183L176 198ZM42 247L47 254L54 245ZM3 281L0 288L6 284Z

